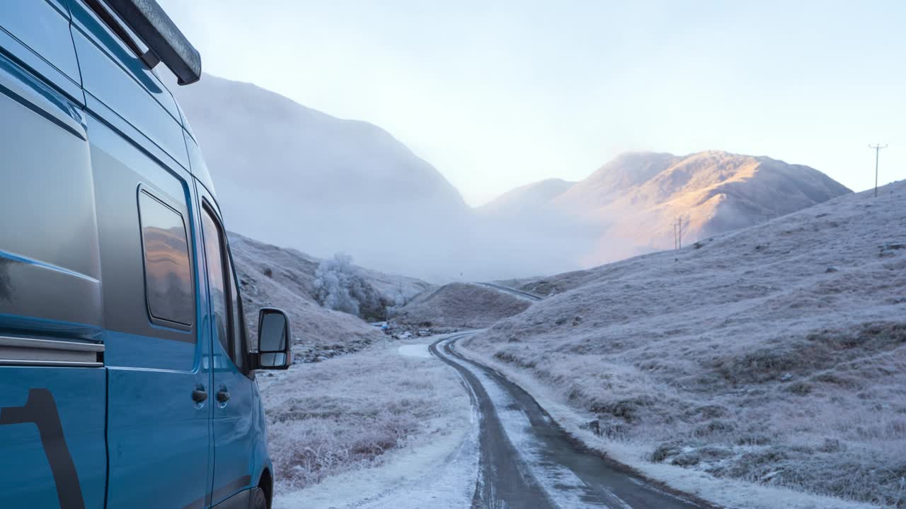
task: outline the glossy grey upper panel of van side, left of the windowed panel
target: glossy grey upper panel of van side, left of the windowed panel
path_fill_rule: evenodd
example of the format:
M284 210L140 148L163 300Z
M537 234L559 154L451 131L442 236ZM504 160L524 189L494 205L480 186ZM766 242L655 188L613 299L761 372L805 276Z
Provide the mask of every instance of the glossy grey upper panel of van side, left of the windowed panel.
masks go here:
M0 55L0 119L2 164L15 182L0 186L0 317L32 317L17 328L33 333L57 335L54 322L100 329L101 267L82 111ZM12 323L3 323L0 332L9 331Z

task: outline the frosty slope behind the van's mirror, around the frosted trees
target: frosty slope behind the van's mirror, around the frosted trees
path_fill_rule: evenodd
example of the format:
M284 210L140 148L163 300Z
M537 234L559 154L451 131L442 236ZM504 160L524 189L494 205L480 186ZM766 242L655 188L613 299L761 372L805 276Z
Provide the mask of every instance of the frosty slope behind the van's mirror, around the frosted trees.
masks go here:
M267 306L283 309L289 316L294 351L302 360L358 351L384 337L360 318L317 303L314 282L320 259L235 233L229 239L251 338L257 337L258 310ZM409 301L429 288L416 279L355 269L371 292L387 303L394 303L397 295Z

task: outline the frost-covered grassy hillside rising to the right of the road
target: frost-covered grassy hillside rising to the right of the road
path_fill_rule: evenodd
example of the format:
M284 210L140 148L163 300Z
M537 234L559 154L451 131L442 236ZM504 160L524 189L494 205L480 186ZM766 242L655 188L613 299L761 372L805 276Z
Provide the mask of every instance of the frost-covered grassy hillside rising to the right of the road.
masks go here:
M525 281L559 292L467 351L550 390L578 416L565 426L642 471L904 507L903 203L906 181Z

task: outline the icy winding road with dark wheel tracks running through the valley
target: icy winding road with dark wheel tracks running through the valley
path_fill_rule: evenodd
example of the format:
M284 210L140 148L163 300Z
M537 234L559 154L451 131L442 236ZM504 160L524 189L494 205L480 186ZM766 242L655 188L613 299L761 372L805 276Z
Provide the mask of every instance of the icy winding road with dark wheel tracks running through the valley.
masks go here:
M576 443L525 390L456 350L459 334L430 345L458 370L477 410L473 509L704 509L631 475Z

